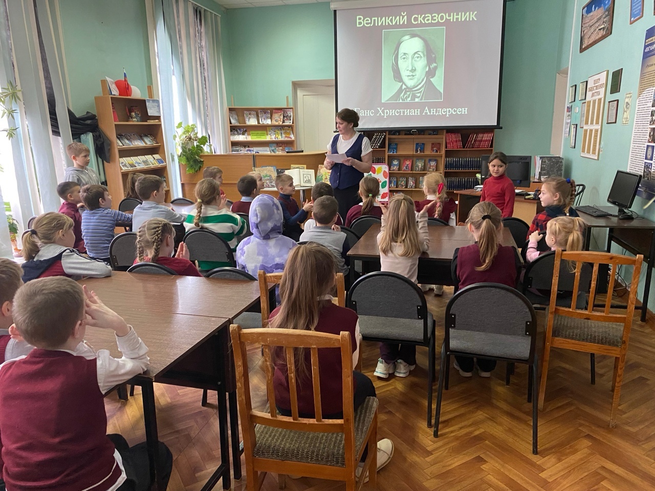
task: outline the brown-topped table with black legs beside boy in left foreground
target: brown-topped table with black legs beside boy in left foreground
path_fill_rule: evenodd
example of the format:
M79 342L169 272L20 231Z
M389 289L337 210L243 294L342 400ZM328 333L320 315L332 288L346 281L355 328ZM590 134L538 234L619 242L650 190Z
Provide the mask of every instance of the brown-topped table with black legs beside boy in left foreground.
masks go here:
M217 391L221 465L202 490L214 487L221 477L223 488L229 489L226 393L230 403L235 479L240 479L241 467L228 327L234 318L259 300L259 283L126 272L113 272L110 278L86 278L80 283L121 314L150 350L148 370L128 383L142 388L151 463L155 462L157 448L153 382ZM89 330L86 340L96 349L107 348L112 355L120 356L113 333L109 331ZM151 469L154 472L155 465L151 464Z

